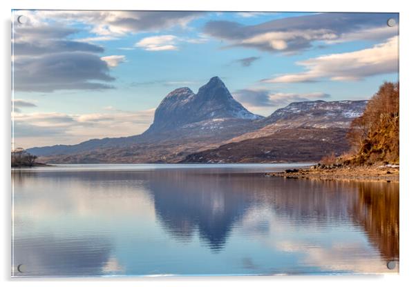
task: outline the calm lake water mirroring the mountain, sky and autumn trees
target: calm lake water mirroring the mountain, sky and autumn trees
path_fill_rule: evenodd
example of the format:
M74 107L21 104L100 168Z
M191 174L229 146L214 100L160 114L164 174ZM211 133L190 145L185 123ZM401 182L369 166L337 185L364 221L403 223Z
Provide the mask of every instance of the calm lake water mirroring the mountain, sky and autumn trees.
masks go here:
M15 170L14 275L398 272L399 184L264 176L287 166Z

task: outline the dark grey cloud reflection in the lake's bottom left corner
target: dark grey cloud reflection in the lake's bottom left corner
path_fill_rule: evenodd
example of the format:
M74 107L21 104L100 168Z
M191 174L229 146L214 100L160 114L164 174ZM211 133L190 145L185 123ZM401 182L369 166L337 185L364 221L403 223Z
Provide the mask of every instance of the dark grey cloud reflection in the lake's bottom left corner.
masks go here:
M101 274L110 259L111 242L94 237L17 237L13 261L26 276L88 276ZM14 275L19 275L17 268Z

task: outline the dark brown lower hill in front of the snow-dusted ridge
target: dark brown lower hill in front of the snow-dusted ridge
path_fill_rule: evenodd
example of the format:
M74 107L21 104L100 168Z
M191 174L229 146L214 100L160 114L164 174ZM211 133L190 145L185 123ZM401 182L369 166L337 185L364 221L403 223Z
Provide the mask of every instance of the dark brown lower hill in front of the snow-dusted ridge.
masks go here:
M265 137L225 143L202 150L181 163L314 162L334 152L348 151L345 128L286 128Z

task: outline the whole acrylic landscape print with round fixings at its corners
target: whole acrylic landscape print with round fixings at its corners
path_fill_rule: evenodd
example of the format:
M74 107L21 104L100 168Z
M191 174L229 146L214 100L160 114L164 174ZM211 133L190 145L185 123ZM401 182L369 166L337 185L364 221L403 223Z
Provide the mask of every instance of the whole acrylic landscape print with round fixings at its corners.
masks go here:
M399 273L399 14L12 11L12 276Z

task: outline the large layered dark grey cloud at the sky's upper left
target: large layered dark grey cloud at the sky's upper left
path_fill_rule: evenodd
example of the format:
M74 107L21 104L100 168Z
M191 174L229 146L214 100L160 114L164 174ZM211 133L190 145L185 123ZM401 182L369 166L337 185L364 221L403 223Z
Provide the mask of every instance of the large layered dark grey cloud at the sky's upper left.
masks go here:
M28 92L113 88L108 85L115 80L108 63L116 65L122 58L104 61L99 56L104 48L73 40L77 32L72 26L39 21L13 26L13 88Z

